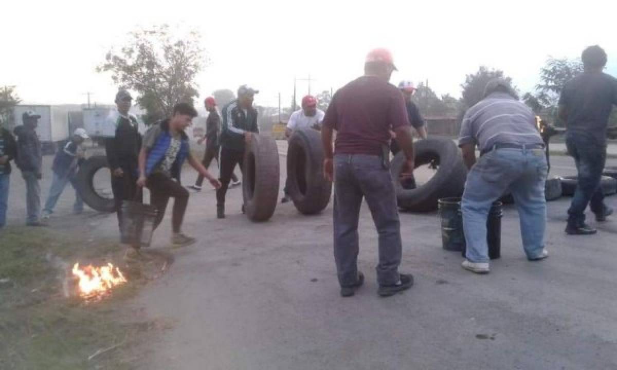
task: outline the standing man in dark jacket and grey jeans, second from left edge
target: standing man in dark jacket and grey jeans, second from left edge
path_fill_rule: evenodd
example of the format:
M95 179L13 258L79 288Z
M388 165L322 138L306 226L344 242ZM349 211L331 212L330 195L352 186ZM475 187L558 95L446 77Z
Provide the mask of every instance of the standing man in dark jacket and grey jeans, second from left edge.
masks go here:
M17 136L17 167L22 170L23 181L26 183L26 207L28 226L45 226L41 223L41 186L39 179L43 165L41 142L36 134L36 126L41 118L37 113L28 110L22 115L23 126L15 128Z

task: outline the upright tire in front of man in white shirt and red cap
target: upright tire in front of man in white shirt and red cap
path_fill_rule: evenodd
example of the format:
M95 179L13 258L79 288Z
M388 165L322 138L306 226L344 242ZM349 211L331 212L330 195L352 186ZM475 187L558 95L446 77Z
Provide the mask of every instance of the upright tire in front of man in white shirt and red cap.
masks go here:
M323 157L319 131L294 131L287 150L288 193L297 210L305 215L321 212L330 202L332 183L323 177Z

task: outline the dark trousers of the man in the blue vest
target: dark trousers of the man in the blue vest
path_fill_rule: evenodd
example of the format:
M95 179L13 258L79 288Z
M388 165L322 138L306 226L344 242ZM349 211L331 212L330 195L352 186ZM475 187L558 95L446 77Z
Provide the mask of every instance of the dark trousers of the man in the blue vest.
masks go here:
M167 203L170 198L173 198L172 232L180 232L186 206L189 203L189 192L180 183L162 173L153 173L148 176L146 184L150 189L150 202L157 209L154 228L158 228L163 221Z

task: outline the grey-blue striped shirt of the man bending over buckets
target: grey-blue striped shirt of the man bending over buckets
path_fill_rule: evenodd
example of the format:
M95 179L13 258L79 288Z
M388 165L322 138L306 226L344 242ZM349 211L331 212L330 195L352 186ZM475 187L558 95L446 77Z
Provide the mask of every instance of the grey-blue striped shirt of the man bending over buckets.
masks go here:
M458 146L473 142L480 150L500 143L543 144L536 116L523 102L505 92L494 92L465 113Z

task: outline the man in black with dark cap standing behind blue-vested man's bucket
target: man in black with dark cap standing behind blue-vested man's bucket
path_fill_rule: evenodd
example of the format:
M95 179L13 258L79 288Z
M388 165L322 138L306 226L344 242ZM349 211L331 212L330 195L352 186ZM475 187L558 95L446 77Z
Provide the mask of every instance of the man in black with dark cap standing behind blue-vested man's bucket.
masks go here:
M137 118L128 113L133 98L126 90L118 91L116 104L118 111L108 118L115 126L115 136L106 141L107 163L112 171L112 192L118 212L118 225L122 229L122 201L141 202L141 192L137 188L137 157L141 149L141 134Z

